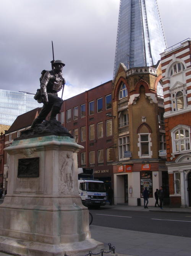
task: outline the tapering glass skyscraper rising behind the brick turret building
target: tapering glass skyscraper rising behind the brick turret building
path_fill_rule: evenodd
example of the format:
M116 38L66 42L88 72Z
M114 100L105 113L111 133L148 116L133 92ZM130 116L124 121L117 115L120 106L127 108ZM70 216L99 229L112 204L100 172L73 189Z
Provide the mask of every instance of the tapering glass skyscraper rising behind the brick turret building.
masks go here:
M166 48L157 0L120 0L113 77L120 63L155 65Z

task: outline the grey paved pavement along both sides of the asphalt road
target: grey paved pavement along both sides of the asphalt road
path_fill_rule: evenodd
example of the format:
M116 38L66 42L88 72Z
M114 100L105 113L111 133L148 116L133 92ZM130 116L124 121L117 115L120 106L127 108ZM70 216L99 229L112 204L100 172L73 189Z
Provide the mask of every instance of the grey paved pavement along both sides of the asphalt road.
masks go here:
M189 208L155 208L149 206L105 205L102 208L126 211L157 211L172 212L191 215ZM189 227L188 227L189 228ZM191 238L182 236L171 236L132 230L122 230L118 228L108 228L102 226L90 226L91 236L97 241L104 243L104 251L109 251L108 243L115 246L117 256L191 256ZM0 256L10 256L10 254L0 253ZM101 254L99 254L101 255Z

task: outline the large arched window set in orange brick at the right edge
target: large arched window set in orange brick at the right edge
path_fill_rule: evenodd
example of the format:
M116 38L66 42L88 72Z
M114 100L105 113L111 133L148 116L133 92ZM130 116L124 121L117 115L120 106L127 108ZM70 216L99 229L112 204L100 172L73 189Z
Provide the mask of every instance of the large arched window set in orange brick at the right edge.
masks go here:
M173 132L173 152L182 152L190 150L190 131L186 128L180 128Z

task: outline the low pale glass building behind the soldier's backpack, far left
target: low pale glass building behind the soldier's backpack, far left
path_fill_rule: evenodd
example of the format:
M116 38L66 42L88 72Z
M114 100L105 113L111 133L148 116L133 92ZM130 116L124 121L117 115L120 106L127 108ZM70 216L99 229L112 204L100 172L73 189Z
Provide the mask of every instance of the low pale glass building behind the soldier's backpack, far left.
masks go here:
M0 89L0 124L11 125L19 115L42 105L33 93Z

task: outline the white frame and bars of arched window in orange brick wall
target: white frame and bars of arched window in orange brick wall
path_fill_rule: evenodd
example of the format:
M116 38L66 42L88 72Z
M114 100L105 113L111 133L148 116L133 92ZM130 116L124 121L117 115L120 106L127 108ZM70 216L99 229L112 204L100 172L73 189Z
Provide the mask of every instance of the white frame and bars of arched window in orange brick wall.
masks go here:
M188 130L188 134L189 137L184 137L184 138L180 138L180 139L176 139L175 138L175 134L177 131L180 131L181 129L184 130L184 134L185 134L185 130ZM179 136L180 137L180 136ZM184 152L190 152L191 151L191 138L190 138L190 127L189 126L185 126L185 125L178 125L176 127L174 127L171 130L171 138L172 138L172 153L173 154L180 154L180 153L184 153ZM181 150L181 141L184 140L184 145L186 148L186 140L189 140L189 149L185 149L185 150ZM178 144L178 149L176 150L176 145Z

